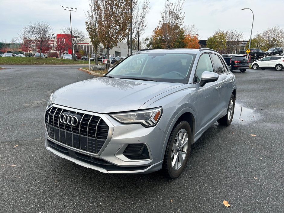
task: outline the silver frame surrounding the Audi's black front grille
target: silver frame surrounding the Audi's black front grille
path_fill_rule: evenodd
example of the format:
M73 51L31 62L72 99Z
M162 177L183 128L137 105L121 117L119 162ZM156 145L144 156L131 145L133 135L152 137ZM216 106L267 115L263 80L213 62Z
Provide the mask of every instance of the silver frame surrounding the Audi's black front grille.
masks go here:
M69 111L74 111L74 112L77 112L77 113L82 113L82 114L87 114L87 115L95 115L95 116L98 116L100 117L101 119L103 119L103 121L105 121L106 124L108 124L108 136L107 136L107 139L105 140L105 143L104 145L102 146L102 148L100 149L100 151L95 154L95 153L90 153L88 151L84 151L84 150L80 150L80 149L77 149L77 148L74 148L74 147L71 147L71 146L68 146L66 144L63 144L63 143L60 143L52 138L49 137L49 134L47 132L47 126L46 126L46 122L45 122L45 113L47 110L50 110L51 107L57 107L57 108L61 108L61 109L65 109L65 110L69 110ZM50 111L49 111L49 114L50 114ZM66 124L65 124L66 125ZM73 150L73 151L76 151L76 152L79 152L79 153L82 153L82 154L86 154L86 155L89 155L89 156L93 156L93 157L98 157L102 154L102 152L105 150L105 148L107 147L107 145L109 144L111 138L112 138L112 134L113 134L113 130L114 130L114 125L105 117L105 115L103 114L99 114L99 113L95 113L95 112L90 112L90 111L84 111L84 110L79 110L79 109L75 109L75 108L70 108L70 107L65 107L65 106L61 106L61 105L57 105L57 104L51 104L50 106L48 106L45 111L44 111L44 126L45 126L45 131L47 133L47 138L48 140L62 146L62 147L65 147L67 149L70 149L70 150ZM73 137L72 137L73 139ZM81 143L80 143L81 144Z

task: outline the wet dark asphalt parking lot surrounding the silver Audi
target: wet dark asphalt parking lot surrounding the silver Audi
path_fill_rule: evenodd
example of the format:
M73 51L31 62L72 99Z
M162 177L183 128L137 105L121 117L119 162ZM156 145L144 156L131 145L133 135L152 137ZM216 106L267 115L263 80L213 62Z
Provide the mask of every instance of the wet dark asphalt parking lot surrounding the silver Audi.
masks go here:
M209 128L184 173L170 180L100 173L47 151L50 94L93 76L80 66L1 66L0 212L283 211L284 71L234 72L232 124Z

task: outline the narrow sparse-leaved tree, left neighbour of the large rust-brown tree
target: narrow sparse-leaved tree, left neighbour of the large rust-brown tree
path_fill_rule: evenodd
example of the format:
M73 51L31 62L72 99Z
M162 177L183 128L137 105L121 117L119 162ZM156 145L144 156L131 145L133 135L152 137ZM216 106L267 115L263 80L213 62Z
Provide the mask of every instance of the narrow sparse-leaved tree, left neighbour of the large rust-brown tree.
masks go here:
M98 49L100 48L100 40L98 37L98 13L95 9L95 1L89 0L90 9L88 10L86 15L87 21L86 23L86 31L88 32L89 38L91 40L92 46L95 49L96 57L98 57ZM96 60L97 64L98 61Z

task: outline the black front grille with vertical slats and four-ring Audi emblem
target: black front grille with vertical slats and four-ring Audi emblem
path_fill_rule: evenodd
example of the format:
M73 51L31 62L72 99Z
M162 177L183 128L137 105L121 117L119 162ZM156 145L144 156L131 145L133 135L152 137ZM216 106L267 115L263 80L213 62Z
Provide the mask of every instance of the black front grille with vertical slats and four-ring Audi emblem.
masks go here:
M68 123L63 122L64 115L66 118L70 116ZM62 119L60 119L60 116ZM79 118L78 123L75 123L76 125L71 124L73 117ZM56 142L94 154L101 150L108 137L108 124L99 116L58 107L47 109L45 112L45 125L48 136Z

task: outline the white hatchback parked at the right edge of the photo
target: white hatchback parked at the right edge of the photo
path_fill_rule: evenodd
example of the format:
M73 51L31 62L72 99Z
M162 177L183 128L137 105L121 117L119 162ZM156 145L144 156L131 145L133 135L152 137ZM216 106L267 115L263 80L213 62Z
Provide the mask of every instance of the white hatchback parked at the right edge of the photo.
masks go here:
M253 69L276 69L282 70L284 66L284 56L266 56L253 62Z

